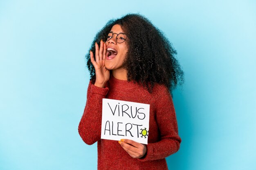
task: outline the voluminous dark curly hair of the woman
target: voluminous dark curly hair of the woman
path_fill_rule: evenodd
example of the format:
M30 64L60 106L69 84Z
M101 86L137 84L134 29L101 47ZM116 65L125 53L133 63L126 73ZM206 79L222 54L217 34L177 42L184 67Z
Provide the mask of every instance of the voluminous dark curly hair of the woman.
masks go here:
M127 70L127 81L141 83L149 93L155 83L164 84L172 94L179 83L184 83L184 72L174 55L176 50L164 33L141 14L128 13L119 19L111 19L96 34L90 47L95 52L95 42L107 40L112 26L119 24L128 39L128 52L123 62ZM95 69L90 61L90 50L86 54L90 80L96 81ZM95 54L94 54L95 59Z

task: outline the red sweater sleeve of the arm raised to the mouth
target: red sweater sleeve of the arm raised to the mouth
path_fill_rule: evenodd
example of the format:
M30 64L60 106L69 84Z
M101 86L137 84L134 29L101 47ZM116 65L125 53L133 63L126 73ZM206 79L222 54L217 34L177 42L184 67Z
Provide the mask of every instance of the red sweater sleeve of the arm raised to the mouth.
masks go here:
M107 94L108 87L97 87L89 82L87 101L78 126L79 135L88 145L101 139L102 99L106 98Z

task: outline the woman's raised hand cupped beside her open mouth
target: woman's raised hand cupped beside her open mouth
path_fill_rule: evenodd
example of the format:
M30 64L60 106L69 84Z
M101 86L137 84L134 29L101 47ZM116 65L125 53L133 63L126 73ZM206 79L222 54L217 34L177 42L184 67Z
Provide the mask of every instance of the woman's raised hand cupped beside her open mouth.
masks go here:
M95 68L96 81L94 83L97 87L105 87L106 82L110 78L110 70L105 66L105 59L107 53L107 45L102 41L100 42L100 48L97 43L95 43L95 59L93 57L93 52L90 51L91 62Z

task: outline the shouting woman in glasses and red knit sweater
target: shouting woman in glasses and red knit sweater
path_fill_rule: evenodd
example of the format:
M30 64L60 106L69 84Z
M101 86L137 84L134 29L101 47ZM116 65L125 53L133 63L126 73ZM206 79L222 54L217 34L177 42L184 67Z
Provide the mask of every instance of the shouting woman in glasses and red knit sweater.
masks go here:
M165 157L181 142L171 92L183 82L171 43L139 14L110 20L94 42L87 54L91 78L78 130L86 144L97 142L98 169L168 169ZM103 98L150 105L147 145L101 139Z

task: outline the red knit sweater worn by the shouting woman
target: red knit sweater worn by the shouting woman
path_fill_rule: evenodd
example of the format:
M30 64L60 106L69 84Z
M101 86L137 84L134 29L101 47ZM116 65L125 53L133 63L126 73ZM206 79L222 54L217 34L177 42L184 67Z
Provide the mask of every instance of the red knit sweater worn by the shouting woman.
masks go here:
M102 99L125 100L150 105L148 144L142 158L132 158L115 140L101 139ZM83 141L97 142L98 169L165 170L165 157L180 148L173 100L165 85L155 84L150 94L141 84L110 76L104 88L89 82L87 101L78 127ZM125 137L124 137L125 139Z

